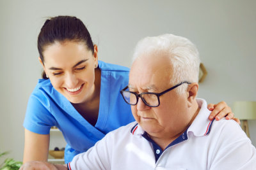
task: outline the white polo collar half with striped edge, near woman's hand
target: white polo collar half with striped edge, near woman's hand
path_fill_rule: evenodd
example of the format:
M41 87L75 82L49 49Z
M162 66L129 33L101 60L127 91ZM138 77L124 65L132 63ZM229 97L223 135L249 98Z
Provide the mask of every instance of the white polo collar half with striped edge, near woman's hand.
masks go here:
M214 120L209 120L211 111L207 108L207 103L204 99L196 99L200 111L195 120L188 128L188 132L193 132L195 136L205 136L211 132L211 125Z

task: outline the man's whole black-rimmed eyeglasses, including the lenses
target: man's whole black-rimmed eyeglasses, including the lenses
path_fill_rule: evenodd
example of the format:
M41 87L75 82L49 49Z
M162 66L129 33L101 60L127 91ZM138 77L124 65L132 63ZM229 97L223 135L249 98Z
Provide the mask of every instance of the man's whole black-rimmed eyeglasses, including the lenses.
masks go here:
M170 89L164 90L161 93L154 93L154 92L143 92L140 94L136 94L136 92L130 92L130 91L125 91L128 89L128 86L125 87L123 90L120 91L120 93L122 94L122 96L124 97L124 101L127 104L131 104L131 105L136 105L139 101L139 97L141 97L141 100L143 101L143 103L145 103L147 106L150 107L157 107L160 104L160 100L159 97L162 96L163 94L170 92L170 90L175 89L176 87L179 87L180 85L182 85L183 83L189 83L188 81L182 81L181 83L171 87Z

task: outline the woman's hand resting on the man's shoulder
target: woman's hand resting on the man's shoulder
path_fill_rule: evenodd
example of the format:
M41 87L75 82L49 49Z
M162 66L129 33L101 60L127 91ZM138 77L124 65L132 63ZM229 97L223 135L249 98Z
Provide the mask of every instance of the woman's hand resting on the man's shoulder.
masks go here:
M208 104L207 108L212 111L209 115L209 119L212 120L215 118L215 120L220 120L221 118L225 117L227 120L233 119L238 124L240 124L239 118L234 117L234 113L232 112L230 106L225 103L225 101L221 101L217 104Z

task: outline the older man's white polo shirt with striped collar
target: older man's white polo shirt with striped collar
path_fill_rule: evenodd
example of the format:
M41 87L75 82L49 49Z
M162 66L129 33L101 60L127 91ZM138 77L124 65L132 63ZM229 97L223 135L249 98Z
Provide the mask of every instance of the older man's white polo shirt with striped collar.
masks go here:
M132 122L74 157L68 169L256 169L255 147L241 127L234 120L210 121L207 103L197 101L197 117L164 151Z

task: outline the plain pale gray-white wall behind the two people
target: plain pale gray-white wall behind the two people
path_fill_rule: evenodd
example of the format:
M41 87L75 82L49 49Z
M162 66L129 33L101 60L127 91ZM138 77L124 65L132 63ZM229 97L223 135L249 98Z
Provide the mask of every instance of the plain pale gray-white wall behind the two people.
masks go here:
M40 78L36 38L47 17L81 18L101 60L130 66L136 42L173 33L191 39L208 75L199 97L208 102L256 101L256 1L0 0L0 152L22 160L23 118ZM250 121L256 145L256 122Z

